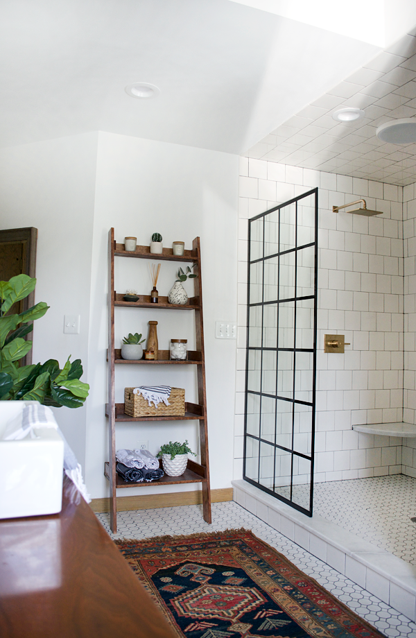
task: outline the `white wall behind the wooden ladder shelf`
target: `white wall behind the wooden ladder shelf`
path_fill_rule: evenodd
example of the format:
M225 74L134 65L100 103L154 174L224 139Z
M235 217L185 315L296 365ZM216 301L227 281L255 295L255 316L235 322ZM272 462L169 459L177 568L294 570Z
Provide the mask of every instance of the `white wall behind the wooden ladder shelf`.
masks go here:
M89 326L89 383L87 399L87 476L92 497L107 495L103 478L107 453L107 234L114 226L116 241L137 236L148 244L160 232L164 245L183 240L187 248L201 238L202 290L211 487L225 488L232 478L232 442L236 342L214 338L215 320L236 319L236 227L238 157L210 150L165 144L146 139L99 133L96 202L92 251L91 314ZM116 261L116 291L151 289L147 261ZM175 264L162 262L158 289L167 295L175 281ZM188 291L192 288L187 282ZM129 331L148 333L148 320L157 320L159 348L168 349L171 338L194 340L193 313L189 311L137 311L116 309L116 340ZM184 368L188 368L185 370ZM184 387L186 399L196 399L195 372L188 366L137 366L116 368L116 401L123 402L125 386L166 383ZM134 447L149 440L155 454L168 440L187 438L198 445L196 422L148 422L117 425L117 447ZM179 491L173 485L171 491ZM182 490L198 485L182 486ZM169 488L132 488L119 496L166 492ZM119 490L120 492L120 490Z

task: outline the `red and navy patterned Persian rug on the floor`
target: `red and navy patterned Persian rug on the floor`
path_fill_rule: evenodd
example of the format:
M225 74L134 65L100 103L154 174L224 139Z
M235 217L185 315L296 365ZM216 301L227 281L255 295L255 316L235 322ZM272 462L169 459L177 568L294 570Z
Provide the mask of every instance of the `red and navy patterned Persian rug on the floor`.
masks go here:
M247 530L118 540L180 638L380 638Z

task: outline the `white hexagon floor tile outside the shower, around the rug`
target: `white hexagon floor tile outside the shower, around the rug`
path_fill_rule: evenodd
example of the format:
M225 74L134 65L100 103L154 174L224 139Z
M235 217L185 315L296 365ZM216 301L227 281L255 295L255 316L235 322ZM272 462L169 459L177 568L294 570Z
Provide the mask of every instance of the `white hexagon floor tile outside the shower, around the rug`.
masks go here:
M119 531L116 534L110 531L109 514L98 514L97 517L114 539L214 532L239 527L251 529L255 535L283 553L305 574L318 580L320 585L389 638L416 638L416 624L404 614L383 603L346 576L339 574L328 564L281 535L234 501L213 503L211 525L205 523L202 518L201 506L119 512L117 515Z

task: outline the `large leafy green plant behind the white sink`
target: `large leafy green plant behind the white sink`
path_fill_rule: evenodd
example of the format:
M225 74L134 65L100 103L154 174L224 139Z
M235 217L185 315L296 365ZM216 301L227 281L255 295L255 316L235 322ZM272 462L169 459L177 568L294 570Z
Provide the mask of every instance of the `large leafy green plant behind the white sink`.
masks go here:
M89 385L80 381L83 366L80 359L19 365L28 354L32 341L23 337L31 333L33 322L44 316L49 306L40 302L19 314L7 314L13 304L25 299L34 289L36 279L17 275L0 282L0 400L39 401L46 406L79 408L88 396Z

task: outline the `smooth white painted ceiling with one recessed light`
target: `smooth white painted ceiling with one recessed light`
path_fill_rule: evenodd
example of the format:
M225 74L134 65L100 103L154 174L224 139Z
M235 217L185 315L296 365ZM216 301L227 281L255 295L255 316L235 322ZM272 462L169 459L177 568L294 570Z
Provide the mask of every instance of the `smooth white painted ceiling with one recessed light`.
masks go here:
M379 51L229 0L0 0L0 146L105 130L243 153Z

